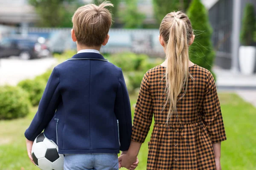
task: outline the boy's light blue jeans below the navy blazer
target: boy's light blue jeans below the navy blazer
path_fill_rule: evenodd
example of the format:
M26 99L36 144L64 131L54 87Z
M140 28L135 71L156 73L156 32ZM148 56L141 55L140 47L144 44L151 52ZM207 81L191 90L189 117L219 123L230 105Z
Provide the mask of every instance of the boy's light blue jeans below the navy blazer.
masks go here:
M118 170L117 154L65 155L64 170Z

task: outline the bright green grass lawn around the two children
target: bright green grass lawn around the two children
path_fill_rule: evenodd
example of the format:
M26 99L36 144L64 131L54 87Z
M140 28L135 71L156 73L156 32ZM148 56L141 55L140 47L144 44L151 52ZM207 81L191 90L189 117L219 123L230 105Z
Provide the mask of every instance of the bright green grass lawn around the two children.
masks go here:
M136 98L131 96L132 111ZM227 133L227 141L222 143L222 169L256 170L256 108L236 94L221 93L219 98ZM0 170L38 170L27 157L23 135L36 109L24 119L0 121ZM150 134L138 156L137 170L146 169L149 139Z

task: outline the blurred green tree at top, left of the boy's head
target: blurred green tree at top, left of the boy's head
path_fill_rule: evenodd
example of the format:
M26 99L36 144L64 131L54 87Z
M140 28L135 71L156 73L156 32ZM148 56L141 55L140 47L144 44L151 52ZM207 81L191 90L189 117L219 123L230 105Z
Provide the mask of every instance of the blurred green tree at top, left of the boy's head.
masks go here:
M79 6L73 0L29 0L40 17L38 26L72 27L71 17Z

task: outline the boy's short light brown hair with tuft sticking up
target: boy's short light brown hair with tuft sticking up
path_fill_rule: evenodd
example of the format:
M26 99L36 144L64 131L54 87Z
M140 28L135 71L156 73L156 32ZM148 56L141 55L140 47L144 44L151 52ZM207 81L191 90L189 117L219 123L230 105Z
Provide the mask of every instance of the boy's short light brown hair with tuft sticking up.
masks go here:
M112 14L105 8L113 4L105 1L99 6L81 6L72 17L77 42L81 45L101 46L112 24Z

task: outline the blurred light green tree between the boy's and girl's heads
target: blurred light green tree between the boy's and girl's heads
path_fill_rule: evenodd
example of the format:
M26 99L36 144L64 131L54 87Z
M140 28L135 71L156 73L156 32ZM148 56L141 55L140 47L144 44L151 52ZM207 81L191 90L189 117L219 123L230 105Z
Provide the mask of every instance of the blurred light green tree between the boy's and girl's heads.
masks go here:
M125 10L119 12L120 20L124 23L124 28L142 28L145 14L138 11L137 0L125 1Z

